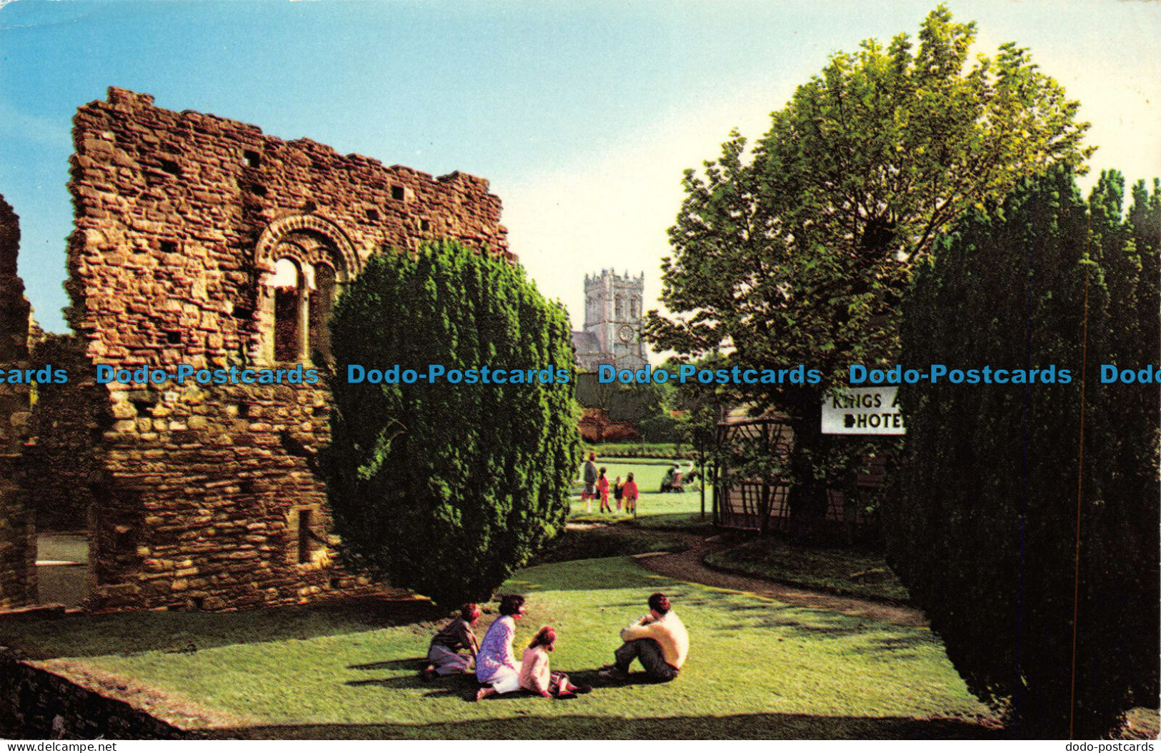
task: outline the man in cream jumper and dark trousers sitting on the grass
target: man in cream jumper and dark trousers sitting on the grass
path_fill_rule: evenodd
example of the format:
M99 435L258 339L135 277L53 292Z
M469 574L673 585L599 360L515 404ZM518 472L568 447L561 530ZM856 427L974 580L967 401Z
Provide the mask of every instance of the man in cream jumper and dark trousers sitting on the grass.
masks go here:
M621 630L621 640L625 643L613 652L616 661L597 673L600 679L626 680L629 665L637 659L650 680L669 682L677 678L690 653L690 633L662 593L649 596L649 614Z

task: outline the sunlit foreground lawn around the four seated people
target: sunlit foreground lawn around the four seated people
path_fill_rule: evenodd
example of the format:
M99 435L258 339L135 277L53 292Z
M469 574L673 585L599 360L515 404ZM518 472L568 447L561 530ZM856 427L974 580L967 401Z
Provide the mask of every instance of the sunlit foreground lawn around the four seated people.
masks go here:
M528 594L575 681L611 660L616 630L668 592L692 636L677 681L598 687L572 701L470 701L466 676L417 676L434 628L423 604L233 614L138 613L0 623L0 644L221 712L216 734L403 738L980 737L989 719L925 629L788 607L654 575L628 558L556 563L505 586ZM490 620L493 615L485 616ZM484 625L478 633L483 635ZM49 663L50 666L53 661ZM222 724L222 723L219 723Z

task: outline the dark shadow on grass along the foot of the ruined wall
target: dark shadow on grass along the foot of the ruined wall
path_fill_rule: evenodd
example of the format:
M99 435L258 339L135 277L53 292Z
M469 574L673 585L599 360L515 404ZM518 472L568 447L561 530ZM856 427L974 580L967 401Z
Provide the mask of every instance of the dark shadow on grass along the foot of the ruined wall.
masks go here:
M366 598L228 613L129 611L12 623L0 616L0 645L30 659L194 653L235 644L367 632L432 622L447 614L427 601Z

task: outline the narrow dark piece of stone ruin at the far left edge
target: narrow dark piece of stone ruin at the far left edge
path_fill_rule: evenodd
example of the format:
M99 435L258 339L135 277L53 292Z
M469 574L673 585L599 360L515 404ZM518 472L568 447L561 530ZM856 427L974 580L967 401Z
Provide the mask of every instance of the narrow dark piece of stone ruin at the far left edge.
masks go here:
M0 197L0 370L27 369L30 307L16 274L20 218ZM0 382L0 607L36 601L36 538L19 483L30 389Z

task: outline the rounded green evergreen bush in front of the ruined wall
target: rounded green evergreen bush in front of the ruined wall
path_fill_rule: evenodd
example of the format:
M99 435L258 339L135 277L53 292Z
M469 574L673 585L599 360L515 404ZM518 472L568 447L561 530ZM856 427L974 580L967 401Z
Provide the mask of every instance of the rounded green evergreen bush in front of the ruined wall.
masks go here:
M331 332L323 465L344 562L439 603L488 598L564 524L580 446L572 385L555 384L572 365L563 309L519 267L441 242L372 256ZM525 383L349 384L348 364Z

